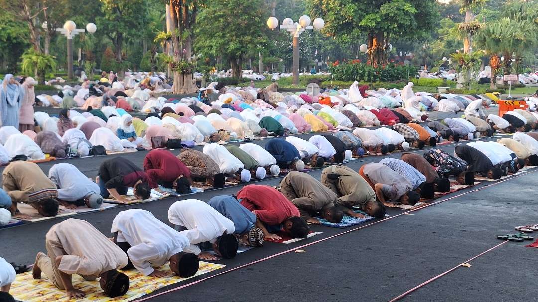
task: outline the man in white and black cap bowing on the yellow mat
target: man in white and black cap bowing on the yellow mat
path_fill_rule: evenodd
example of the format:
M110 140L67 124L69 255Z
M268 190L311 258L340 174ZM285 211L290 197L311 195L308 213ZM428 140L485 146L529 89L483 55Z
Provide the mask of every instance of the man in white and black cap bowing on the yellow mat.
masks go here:
M136 268L144 276L169 277L161 267L170 261L170 269L180 277L191 277L199 267L198 257L188 253L189 240L152 213L139 209L119 212L112 221L114 243L129 257L123 270Z

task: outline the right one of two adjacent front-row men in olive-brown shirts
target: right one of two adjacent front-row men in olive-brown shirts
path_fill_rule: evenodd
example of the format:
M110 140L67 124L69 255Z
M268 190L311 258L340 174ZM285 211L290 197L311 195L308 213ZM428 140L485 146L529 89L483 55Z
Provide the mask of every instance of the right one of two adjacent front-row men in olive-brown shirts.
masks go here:
M353 212L352 208L358 206L372 217L385 216L385 206L376 200L376 192L351 168L342 165L327 167L321 172L321 183L336 193L336 204L345 208L345 214L364 218Z

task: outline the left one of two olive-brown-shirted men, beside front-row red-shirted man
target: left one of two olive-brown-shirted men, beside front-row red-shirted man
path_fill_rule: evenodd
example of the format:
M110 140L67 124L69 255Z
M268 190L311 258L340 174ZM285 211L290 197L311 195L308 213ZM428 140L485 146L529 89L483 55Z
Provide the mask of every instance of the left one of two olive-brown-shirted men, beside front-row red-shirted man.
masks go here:
M316 215L333 224L344 217L342 209L335 206L336 194L309 174L290 171L280 182L280 191L311 224L320 224Z

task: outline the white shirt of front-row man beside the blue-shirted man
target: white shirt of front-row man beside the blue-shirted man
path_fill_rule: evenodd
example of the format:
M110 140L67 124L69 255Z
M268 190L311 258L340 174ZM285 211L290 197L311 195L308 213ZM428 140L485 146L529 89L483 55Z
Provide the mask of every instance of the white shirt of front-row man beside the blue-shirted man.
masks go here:
M190 246L186 250L198 255L201 253L196 246L202 242L215 242L224 232L233 234L233 222L217 212L213 207L198 199L185 199L175 202L168 209L168 220L176 226L187 228L180 234L187 237Z

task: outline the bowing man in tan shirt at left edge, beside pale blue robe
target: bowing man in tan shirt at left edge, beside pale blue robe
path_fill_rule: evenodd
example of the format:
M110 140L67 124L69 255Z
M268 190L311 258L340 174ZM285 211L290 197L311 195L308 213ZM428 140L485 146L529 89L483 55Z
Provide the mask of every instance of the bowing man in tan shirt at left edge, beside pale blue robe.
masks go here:
M3 187L11 197L11 214L18 212L17 204L25 203L36 208L40 215L58 215L58 190L56 185L36 163L15 161L2 172ZM19 214L20 215L20 214Z

